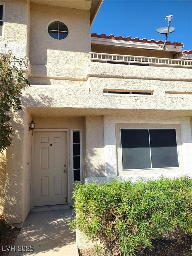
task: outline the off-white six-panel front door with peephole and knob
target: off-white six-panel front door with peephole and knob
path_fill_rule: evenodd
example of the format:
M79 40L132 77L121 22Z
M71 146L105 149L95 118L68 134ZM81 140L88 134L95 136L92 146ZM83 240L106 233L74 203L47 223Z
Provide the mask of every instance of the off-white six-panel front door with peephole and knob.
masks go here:
M34 206L67 203L67 132L35 132Z

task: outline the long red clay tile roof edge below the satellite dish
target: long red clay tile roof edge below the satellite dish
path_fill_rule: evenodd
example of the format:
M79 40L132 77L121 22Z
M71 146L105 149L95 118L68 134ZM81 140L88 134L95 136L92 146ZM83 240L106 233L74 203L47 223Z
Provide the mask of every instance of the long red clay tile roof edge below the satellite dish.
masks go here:
M139 39L138 37L131 38L129 36L127 36L127 37L114 36L114 35L106 36L105 34L98 35L96 33L92 33L91 37L104 38L104 39L113 39L113 40L122 40L122 41L131 41L131 42L151 43L151 44L164 44L164 42L162 40L155 41L154 39L147 40L146 38ZM166 44L167 45L177 45L177 46L182 46L183 47L183 43L178 43L178 42L173 42L172 43L170 41L167 41Z

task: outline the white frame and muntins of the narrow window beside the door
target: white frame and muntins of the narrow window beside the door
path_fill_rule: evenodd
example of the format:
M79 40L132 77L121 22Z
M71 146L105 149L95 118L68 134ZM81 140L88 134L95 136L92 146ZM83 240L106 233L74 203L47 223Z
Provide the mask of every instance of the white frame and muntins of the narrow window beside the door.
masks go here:
M79 144L80 144L80 168L78 169L74 169L73 168L73 144L76 144L78 142L74 142L73 143L73 132L79 132ZM80 181L74 181L74 170L80 170ZM71 172L72 172L72 183L76 184L77 182L81 182L83 179L83 175L82 175L82 133L81 130L72 130L71 131Z

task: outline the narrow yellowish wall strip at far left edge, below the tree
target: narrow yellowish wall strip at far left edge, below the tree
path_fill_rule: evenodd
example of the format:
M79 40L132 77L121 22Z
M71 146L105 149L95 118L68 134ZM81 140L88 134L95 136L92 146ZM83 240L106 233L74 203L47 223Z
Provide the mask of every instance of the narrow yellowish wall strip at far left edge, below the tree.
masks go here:
M6 177L6 150L0 153L0 215L4 212L5 206L5 177Z

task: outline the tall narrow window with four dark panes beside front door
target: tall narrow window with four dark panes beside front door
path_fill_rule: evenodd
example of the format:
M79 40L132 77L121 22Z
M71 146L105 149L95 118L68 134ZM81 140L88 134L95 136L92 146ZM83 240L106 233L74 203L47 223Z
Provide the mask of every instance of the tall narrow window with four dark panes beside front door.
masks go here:
M72 131L72 179L82 180L81 168L81 131Z

